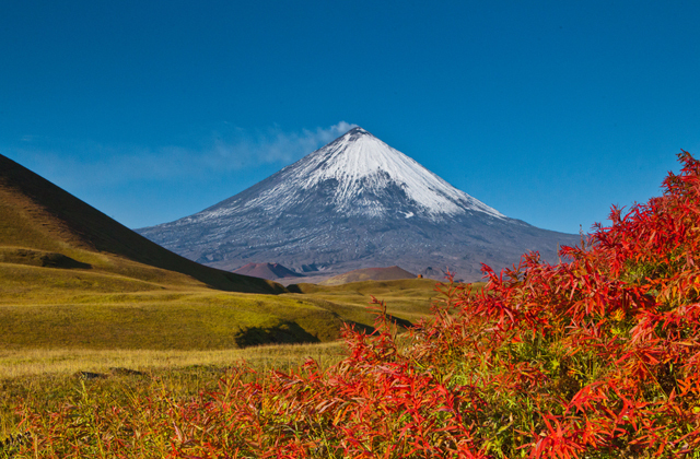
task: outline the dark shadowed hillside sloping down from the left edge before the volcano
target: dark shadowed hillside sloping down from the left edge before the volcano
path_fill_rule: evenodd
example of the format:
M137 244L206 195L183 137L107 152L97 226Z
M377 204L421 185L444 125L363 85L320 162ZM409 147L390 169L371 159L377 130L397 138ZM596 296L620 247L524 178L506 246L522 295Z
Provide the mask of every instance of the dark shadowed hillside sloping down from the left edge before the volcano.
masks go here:
M90 270L234 292L284 292L275 282L203 267L175 255L2 155L0 263Z

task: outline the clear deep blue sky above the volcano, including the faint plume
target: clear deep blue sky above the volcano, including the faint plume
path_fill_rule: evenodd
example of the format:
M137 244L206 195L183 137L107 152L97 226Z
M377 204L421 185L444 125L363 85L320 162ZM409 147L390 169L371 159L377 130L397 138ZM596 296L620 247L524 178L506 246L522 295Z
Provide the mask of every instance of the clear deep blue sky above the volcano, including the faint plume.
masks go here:
M14 1L0 153L130 227L359 125L569 233L700 156L697 1Z

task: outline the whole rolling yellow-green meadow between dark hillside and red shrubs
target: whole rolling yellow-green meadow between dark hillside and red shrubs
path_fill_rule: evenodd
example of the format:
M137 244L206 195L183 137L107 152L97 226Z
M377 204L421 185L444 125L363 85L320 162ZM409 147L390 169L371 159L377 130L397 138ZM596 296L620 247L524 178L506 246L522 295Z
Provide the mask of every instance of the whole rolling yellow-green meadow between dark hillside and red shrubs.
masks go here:
M373 330L373 297L401 331L441 296L425 279L264 295L13 263L0 275L0 439L21 432L21 403L55 410L85 391L124 403L154 390L187 398L243 363L326 367L347 355L345 323Z

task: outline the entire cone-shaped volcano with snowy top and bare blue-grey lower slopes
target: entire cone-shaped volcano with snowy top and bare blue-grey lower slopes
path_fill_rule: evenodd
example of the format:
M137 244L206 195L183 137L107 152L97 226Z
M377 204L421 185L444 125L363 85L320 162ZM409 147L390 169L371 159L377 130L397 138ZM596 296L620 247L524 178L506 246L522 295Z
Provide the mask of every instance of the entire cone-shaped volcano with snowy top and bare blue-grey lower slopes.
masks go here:
M332 275L398 264L416 273L481 278L579 236L509 219L362 128L199 213L138 229L200 263L233 270L279 262Z

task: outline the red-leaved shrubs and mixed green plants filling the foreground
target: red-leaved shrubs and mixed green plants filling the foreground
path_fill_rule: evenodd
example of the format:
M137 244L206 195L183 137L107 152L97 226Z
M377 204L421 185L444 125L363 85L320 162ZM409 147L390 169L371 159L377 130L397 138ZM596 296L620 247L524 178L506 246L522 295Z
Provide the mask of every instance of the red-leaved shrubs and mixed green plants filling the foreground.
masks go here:
M28 400L5 456L700 457L700 162L679 160L662 197L614 208L562 262L485 267L483 290L444 286L408 333L375 302L330 366Z

